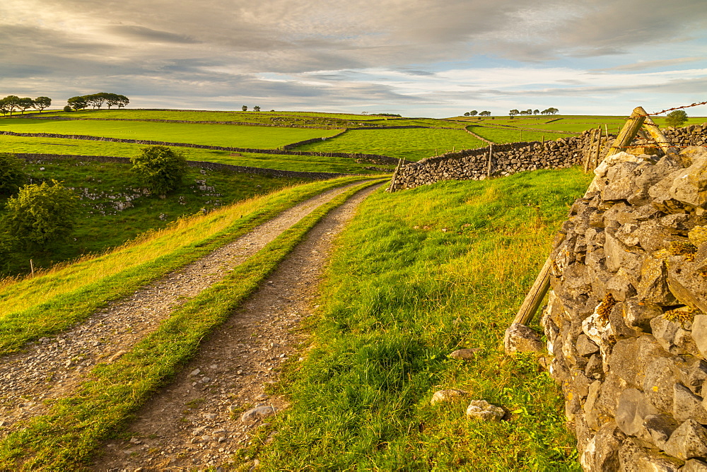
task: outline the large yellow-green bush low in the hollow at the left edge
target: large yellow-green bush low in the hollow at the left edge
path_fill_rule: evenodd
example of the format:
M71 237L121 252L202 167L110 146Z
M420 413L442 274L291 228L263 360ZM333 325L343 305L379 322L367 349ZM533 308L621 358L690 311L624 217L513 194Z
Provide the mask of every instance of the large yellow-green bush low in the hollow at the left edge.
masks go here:
M78 205L74 191L52 179L22 187L6 204L2 219L13 243L22 249L45 249L64 240L76 224Z

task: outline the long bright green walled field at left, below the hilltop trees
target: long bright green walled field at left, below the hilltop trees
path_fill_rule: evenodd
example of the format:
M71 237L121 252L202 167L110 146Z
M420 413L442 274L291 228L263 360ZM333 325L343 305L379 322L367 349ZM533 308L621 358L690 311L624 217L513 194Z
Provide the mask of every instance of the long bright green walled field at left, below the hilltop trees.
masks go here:
M0 119L0 131L87 134L107 138L146 139L233 148L275 149L310 138L334 136L336 129L238 126L220 124L120 121L62 121L31 118Z

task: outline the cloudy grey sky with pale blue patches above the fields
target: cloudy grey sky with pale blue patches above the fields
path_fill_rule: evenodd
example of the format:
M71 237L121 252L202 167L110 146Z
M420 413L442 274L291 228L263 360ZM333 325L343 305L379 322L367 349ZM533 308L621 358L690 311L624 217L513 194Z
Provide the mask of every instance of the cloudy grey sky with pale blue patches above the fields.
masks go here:
M707 1L0 1L0 97L97 92L196 110L658 112L707 101Z

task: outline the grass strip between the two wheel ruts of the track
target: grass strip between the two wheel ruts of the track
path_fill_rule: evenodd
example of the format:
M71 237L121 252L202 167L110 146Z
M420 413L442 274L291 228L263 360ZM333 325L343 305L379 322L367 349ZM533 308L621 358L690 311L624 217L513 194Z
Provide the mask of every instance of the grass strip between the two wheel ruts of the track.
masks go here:
M0 468L74 470L86 465L100 441L196 353L201 339L228 318L308 230L368 185L349 189L320 206L223 281L175 310L155 333L117 362L95 367L76 394L57 401L51 413L33 419L28 427L0 442Z

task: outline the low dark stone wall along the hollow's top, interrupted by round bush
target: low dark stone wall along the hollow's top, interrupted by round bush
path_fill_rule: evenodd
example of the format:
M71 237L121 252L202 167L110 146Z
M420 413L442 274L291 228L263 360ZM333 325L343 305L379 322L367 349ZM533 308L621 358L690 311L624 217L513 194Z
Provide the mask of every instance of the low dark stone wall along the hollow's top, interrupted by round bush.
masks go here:
M120 158L112 155L75 155L75 154L28 154L15 153L18 158L25 160L91 160L99 163L124 163L129 164L129 158ZM211 170L229 170L231 172L243 172L244 174L268 175L271 177L298 177L301 179L334 179L348 175L359 174L337 174L334 172L297 172L295 170L263 169L261 167L246 167L243 165L230 165L221 163L209 163L199 160L187 160L189 167Z

